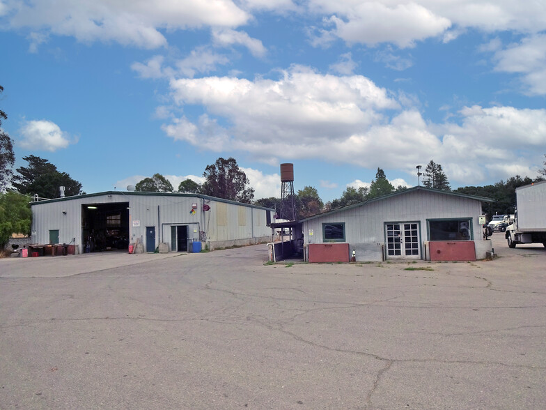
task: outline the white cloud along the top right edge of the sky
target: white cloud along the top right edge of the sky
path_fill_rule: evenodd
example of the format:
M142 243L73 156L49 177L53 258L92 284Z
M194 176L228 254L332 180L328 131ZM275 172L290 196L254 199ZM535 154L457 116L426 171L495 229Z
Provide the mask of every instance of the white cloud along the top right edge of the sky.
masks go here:
M466 29L485 33L546 29L541 1L522 6L517 0L310 0L309 10L325 16L325 29L312 39L315 45L331 43L336 36L348 43L412 47L438 36L448 42Z

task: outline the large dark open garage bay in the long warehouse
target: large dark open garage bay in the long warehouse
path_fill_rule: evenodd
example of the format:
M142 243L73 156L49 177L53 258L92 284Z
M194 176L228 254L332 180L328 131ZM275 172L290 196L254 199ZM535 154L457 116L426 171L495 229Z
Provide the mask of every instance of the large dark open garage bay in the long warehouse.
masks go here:
M129 202L82 205L81 239L84 253L127 250Z

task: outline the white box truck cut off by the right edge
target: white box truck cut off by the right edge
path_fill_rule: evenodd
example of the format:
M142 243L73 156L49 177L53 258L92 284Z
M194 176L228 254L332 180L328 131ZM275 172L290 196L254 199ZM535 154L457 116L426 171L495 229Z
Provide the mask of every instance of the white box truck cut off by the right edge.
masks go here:
M546 181L515 189L514 223L506 228L509 248L518 243L543 243L546 247Z

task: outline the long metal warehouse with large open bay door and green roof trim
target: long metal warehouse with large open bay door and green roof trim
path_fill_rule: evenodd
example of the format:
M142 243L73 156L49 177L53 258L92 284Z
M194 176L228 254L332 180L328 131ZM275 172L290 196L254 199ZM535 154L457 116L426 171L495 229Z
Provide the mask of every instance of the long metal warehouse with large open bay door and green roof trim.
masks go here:
M75 245L75 252L127 249L212 250L271 239L274 210L197 194L100 192L31 203L32 243Z

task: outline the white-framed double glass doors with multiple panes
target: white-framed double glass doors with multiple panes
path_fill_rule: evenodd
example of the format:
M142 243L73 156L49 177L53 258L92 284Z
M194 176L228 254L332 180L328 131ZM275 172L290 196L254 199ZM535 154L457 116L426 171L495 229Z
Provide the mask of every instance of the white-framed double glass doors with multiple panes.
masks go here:
M387 259L421 259L419 224L385 224Z

